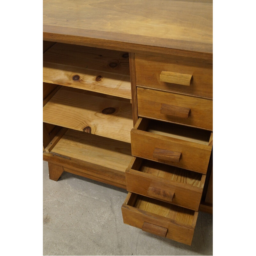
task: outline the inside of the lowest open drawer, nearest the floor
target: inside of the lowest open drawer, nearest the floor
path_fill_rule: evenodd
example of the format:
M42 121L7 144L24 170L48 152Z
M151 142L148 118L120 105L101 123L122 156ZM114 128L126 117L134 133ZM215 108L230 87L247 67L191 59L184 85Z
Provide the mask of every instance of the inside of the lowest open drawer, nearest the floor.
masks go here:
M132 194L127 205L190 226L194 223L195 211L164 203L146 196Z

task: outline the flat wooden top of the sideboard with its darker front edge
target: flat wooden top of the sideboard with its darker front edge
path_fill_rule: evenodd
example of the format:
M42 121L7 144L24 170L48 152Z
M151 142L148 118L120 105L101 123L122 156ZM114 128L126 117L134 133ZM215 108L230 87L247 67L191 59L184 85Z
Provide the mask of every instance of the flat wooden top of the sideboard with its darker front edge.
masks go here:
M94 39L95 45L127 50L212 54L211 0L44 0L43 4L44 40L89 45Z

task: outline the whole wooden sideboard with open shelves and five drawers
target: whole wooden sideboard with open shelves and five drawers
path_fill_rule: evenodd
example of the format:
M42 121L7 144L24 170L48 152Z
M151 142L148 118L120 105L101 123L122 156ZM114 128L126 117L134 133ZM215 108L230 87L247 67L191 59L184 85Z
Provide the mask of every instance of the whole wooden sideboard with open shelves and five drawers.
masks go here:
M124 223L191 244L212 212L212 1L44 0L43 159L129 191Z

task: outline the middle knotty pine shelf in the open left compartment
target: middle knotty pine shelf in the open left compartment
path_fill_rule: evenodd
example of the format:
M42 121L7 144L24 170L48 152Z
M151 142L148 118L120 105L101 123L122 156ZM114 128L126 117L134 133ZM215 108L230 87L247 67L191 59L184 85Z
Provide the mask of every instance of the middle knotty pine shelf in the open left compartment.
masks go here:
M131 142L131 104L88 95L83 90L62 87L44 106L43 120L78 131L90 127L92 134Z

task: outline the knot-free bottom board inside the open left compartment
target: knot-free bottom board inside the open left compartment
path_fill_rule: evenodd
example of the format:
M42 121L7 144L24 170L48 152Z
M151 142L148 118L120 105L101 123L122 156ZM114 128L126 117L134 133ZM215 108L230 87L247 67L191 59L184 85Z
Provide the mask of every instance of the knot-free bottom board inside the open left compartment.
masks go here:
M51 152L122 172L132 159L129 143L70 129Z

